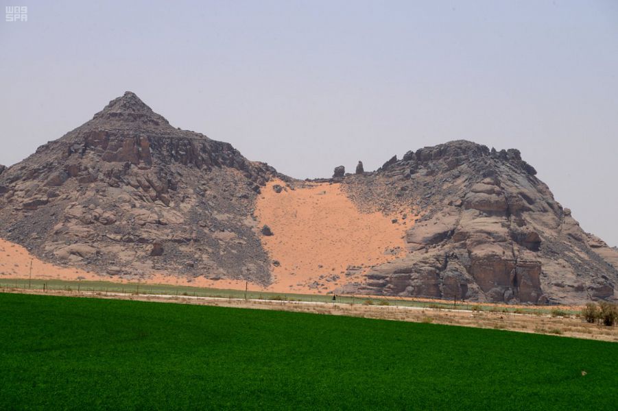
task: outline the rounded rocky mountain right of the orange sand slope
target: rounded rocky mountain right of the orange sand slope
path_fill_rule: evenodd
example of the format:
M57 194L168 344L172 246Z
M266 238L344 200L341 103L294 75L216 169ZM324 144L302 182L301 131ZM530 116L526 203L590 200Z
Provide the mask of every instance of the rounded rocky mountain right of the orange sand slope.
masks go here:
M586 234L519 151L468 141L409 151L346 176L359 208L420 216L407 255L348 292L543 303L615 299L618 253Z

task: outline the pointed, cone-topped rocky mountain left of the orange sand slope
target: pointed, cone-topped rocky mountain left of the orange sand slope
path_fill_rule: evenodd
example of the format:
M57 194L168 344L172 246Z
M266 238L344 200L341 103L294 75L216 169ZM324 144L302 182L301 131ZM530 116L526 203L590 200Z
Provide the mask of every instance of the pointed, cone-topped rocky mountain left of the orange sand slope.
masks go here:
M171 127L126 92L0 174L0 236L101 273L113 265L268 284L252 208L275 174L228 143Z

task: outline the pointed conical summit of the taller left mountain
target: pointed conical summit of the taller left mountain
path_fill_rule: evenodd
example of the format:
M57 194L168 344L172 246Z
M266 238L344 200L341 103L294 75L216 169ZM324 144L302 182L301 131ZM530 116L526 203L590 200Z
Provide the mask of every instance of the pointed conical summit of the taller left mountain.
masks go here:
M110 127L121 125L169 126L165 117L152 111L152 108L132 91L127 91L121 97L110 101L103 110L95 114L93 121Z

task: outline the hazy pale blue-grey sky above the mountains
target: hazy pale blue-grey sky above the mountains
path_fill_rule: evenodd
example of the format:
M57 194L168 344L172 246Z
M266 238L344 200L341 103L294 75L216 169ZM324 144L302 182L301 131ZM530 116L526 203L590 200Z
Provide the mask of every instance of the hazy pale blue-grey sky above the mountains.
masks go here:
M518 148L618 245L618 2L29 1L0 22L0 164L126 90L293 177Z

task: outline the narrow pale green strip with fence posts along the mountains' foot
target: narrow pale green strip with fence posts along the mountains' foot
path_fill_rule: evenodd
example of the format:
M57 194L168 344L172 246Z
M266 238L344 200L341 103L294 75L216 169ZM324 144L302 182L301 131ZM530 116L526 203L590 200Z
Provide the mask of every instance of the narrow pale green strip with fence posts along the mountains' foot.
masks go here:
M140 282L113 283L96 281L69 281L60 279L0 279L0 292L11 290L63 291L70 294L95 295L152 295L175 297L210 297L224 299L246 299L263 301L288 301L312 303L363 304L366 306L417 307L443 310L472 310L490 312L538 313L558 309L556 303L508 304L481 303L466 301L456 297L444 299L434 296L415 295L413 297L395 297L381 295L335 295L335 294L298 294L281 292L264 292L256 290L229 290L202 288L195 286L174 286L167 284L145 284ZM564 307L564 312L575 313L578 308Z

